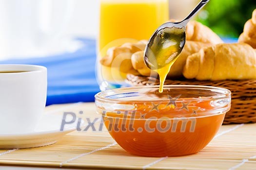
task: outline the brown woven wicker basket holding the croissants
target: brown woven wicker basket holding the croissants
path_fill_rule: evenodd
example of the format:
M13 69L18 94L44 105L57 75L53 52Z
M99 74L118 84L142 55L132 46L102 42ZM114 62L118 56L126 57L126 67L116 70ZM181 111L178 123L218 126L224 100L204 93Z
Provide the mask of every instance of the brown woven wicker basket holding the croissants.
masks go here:
M154 77L127 75L131 85L159 85ZM165 85L211 85L224 87L232 92L231 110L226 114L223 124L256 123L256 80L195 81L166 80Z

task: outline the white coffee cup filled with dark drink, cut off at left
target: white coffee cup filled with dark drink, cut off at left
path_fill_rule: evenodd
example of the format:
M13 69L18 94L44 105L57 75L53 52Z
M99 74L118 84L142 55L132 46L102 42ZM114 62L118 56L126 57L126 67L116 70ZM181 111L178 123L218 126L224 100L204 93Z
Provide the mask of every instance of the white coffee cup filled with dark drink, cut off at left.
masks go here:
M43 114L46 94L47 68L0 65L0 135L33 132Z

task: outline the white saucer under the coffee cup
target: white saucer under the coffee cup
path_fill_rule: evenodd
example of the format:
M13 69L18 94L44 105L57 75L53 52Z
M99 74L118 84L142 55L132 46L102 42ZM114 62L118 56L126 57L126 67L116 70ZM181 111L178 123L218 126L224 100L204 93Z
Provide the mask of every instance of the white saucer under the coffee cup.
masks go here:
M0 134L0 149L34 148L57 142L61 136L77 129L78 121L75 121L72 124L65 124L63 131L60 131L62 117L63 115L45 114L34 131L22 134Z

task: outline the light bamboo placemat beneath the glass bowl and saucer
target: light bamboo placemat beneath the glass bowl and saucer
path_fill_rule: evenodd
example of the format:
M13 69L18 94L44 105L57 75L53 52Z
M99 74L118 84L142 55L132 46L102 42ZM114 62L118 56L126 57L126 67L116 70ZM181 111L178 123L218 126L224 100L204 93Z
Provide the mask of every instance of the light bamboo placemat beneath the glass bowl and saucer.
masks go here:
M82 117L99 120L94 103L52 105L48 114L83 111ZM81 117L81 114L79 114ZM95 128L99 127L97 121ZM125 152L108 132L72 132L53 145L0 150L0 165L83 169L255 170L256 124L223 125L201 152L181 157L140 157Z

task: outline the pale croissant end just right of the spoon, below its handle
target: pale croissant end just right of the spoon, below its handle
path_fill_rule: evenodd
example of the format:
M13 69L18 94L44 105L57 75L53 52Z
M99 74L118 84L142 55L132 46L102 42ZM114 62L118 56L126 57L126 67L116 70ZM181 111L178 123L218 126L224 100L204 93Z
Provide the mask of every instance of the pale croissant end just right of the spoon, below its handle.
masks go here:
M207 44L220 44L223 41L209 27L197 21L190 21L186 27L186 39Z

